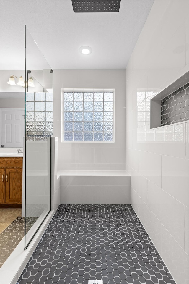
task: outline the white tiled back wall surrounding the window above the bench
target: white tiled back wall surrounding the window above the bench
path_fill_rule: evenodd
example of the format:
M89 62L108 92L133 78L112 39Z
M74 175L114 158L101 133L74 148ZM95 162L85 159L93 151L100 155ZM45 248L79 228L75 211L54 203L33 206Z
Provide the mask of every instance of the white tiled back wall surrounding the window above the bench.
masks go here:
M61 142L61 89L115 89L115 143ZM125 70L54 70L53 134L58 137L59 170L125 170Z

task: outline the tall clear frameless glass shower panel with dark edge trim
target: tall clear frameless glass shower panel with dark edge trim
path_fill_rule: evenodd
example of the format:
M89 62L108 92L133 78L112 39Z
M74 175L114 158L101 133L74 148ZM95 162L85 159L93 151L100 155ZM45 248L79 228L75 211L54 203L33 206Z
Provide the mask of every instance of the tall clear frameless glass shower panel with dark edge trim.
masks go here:
M53 71L25 27L25 249L51 206Z

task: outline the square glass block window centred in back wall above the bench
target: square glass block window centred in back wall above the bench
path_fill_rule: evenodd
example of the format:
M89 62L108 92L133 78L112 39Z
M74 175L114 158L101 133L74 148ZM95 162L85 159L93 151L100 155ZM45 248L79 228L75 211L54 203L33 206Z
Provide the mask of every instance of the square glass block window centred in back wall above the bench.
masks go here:
M113 91L63 92L63 141L113 142Z

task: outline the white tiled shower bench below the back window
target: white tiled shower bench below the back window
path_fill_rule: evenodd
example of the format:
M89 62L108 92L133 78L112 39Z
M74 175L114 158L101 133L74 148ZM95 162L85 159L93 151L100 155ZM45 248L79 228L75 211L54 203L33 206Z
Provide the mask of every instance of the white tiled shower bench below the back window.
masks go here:
M130 204L126 171L58 171L62 204Z

